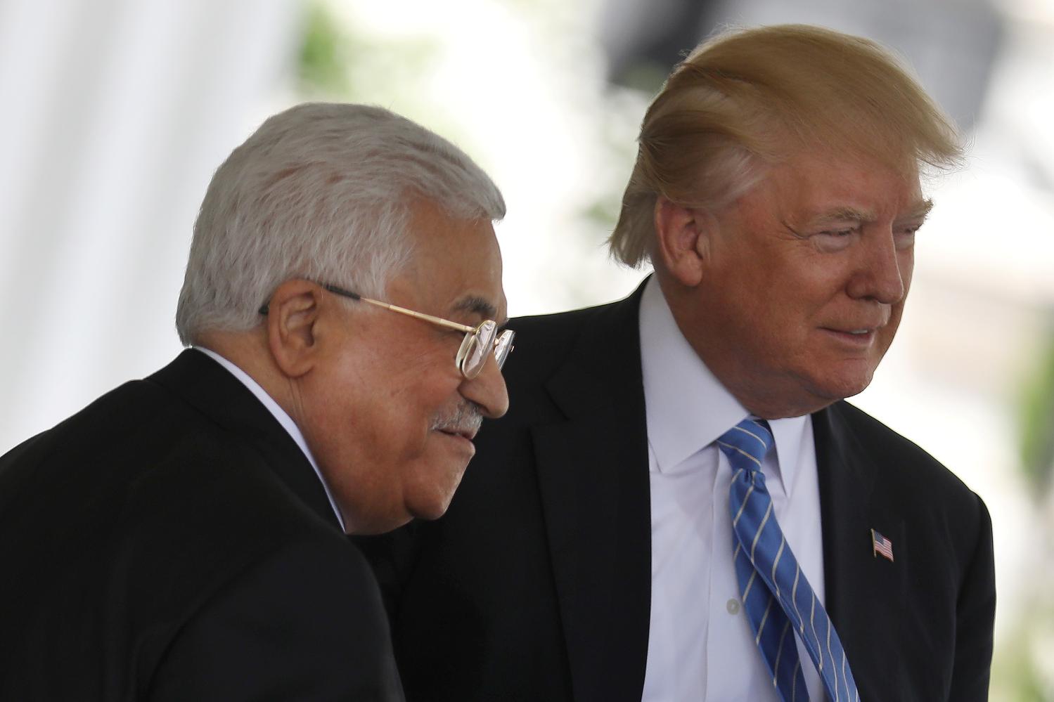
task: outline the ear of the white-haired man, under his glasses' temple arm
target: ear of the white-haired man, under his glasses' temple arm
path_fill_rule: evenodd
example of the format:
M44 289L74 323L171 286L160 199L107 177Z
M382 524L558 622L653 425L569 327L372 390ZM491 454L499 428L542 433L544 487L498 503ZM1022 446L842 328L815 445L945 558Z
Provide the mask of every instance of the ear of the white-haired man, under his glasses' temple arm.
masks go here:
M317 330L323 290L308 280L287 280L268 303L268 347L275 365L288 377L299 377L314 366L319 351Z

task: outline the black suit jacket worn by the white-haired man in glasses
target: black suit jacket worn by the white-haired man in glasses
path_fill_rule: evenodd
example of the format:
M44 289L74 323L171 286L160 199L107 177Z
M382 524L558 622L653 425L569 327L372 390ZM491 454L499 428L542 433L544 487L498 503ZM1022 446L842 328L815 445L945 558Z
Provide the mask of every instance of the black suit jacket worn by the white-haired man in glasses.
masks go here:
M304 453L198 351L0 457L0 699L399 700Z

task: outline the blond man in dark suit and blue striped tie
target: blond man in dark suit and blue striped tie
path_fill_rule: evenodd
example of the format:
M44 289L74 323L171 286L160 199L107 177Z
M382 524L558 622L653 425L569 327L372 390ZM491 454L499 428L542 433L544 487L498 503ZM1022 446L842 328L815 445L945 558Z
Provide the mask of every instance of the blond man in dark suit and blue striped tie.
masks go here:
M513 321L513 411L447 516L396 542L408 698L987 699L984 505L843 402L900 321L920 169L959 156L865 39L692 52L610 240L655 275Z

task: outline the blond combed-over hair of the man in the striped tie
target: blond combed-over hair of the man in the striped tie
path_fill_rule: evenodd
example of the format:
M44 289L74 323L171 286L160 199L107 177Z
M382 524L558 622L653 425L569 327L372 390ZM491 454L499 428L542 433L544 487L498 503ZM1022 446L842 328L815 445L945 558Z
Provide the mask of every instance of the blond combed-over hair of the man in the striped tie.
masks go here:
M678 64L648 108L611 254L649 259L659 196L718 210L802 150L893 168L951 169L962 156L951 120L876 42L794 24L725 32Z

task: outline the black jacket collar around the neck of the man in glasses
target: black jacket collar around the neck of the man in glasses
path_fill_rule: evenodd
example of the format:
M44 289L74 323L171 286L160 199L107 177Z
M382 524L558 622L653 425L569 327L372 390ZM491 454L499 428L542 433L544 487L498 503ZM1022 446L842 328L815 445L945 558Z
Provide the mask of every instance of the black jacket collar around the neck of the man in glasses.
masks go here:
M150 376L223 430L238 435L312 511L337 529L326 489L289 432L240 381L193 349Z

